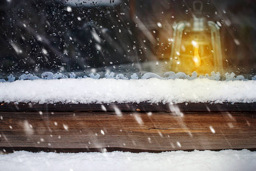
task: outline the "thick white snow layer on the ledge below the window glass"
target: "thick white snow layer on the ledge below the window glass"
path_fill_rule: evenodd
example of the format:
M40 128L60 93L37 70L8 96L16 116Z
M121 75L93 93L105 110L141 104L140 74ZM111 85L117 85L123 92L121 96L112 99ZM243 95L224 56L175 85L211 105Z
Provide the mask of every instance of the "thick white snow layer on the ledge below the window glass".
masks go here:
M95 75L97 77L97 75ZM157 78L16 80L0 83L0 101L32 103L253 103L256 80Z

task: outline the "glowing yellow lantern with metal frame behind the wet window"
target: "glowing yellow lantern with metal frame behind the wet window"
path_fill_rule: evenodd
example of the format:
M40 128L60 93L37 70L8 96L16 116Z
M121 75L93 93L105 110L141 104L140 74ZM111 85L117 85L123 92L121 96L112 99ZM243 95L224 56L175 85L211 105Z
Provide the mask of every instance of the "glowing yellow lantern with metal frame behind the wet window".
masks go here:
M200 8L196 8L200 5ZM202 2L193 3L191 22L182 21L174 25L171 70L187 74L222 72L223 60L220 45L220 28L202 16Z

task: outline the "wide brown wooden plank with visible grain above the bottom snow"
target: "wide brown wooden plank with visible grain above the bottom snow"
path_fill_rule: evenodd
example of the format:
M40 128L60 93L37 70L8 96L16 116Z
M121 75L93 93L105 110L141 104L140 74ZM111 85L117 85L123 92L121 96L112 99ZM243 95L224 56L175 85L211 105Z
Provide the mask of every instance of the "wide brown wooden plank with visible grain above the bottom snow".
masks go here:
M0 112L0 147L31 151L256 149L255 113Z

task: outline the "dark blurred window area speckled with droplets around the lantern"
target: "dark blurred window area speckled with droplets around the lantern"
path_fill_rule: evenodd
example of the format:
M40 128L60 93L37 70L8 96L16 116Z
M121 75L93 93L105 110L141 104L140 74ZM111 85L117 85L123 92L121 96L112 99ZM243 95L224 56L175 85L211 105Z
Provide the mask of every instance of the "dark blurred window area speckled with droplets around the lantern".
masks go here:
M202 2L205 18L221 23L225 72L255 75L255 1ZM169 71L172 25L192 18L192 3L1 0L0 77L26 71L162 74Z

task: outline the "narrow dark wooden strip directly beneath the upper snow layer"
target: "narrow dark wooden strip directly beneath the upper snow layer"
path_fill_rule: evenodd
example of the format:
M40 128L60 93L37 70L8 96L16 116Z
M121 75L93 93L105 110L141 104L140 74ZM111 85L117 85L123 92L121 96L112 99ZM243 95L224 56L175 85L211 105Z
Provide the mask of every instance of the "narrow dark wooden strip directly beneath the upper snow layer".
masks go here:
M179 108L182 112L254 112L256 103L110 103L110 104L32 104L32 103L1 103L0 111L93 111L102 112L102 106L108 112L115 111L152 111L152 112L172 112L174 108Z

